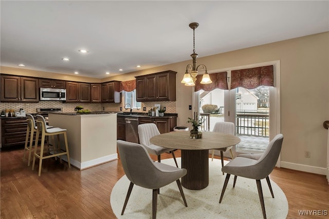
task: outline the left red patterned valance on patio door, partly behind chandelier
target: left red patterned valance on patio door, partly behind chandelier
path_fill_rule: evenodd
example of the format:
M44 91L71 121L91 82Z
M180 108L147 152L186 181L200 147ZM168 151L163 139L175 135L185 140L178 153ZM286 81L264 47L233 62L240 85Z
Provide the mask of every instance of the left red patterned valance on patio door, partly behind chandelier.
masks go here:
M227 72L226 71L209 74L209 77L212 81L211 84L200 84L200 82L202 80L202 76L203 75L196 76L195 89L194 89L196 92L201 89L203 89L205 91L211 91L216 88L228 90Z

